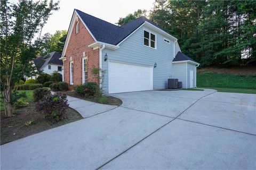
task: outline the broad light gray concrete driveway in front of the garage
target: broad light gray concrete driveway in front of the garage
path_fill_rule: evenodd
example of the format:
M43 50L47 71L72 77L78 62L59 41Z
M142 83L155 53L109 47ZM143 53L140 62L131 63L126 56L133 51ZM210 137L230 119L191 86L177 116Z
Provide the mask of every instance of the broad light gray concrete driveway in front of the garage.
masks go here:
M113 96L123 105L1 146L1 169L256 169L256 95Z

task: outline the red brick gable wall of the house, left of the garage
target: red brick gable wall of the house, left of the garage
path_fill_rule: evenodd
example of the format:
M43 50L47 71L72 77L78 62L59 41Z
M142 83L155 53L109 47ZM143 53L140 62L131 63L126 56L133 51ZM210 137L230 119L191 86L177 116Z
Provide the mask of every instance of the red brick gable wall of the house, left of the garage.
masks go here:
M64 81L70 84L70 57L74 63L74 85L82 84L82 58L83 52L87 54L88 71L87 81L97 82L93 77L91 70L93 67L99 67L99 49L92 49L88 45L95 43L90 32L86 29L84 24L80 22L80 30L76 33L76 22L71 32L69 43L66 50L66 61L63 61L64 65ZM71 88L71 87L70 87Z

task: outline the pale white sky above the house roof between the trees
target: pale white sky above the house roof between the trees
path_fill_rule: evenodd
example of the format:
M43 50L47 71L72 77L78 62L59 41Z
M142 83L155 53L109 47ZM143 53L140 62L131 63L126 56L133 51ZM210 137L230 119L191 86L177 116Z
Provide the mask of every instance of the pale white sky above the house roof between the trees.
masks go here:
M151 10L153 3L154 0L60 0L60 10L50 16L42 35L47 32L53 34L56 30L68 30L74 8L115 24L120 17L138 9Z

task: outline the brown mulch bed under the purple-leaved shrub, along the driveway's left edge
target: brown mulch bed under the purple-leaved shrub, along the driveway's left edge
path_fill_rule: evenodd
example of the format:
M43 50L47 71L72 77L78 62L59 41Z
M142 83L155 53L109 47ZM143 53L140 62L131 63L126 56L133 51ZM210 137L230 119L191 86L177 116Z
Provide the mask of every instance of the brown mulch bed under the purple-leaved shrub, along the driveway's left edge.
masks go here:
M14 116L4 117L1 113L1 145L20 138L27 137L31 134L52 129L63 124L81 120L83 117L72 108L68 108L63 115L63 119L57 123L51 123L45 118L45 114L35 111L35 103L30 102L27 107L16 109ZM27 121L33 121L27 126Z

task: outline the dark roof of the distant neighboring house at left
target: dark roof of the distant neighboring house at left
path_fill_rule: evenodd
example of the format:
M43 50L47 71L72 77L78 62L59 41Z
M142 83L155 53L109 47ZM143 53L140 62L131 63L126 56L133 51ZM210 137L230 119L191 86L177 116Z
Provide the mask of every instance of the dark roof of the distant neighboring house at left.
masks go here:
M60 57L61 57L60 53L52 52L52 53L46 54L45 56L38 56L33 61L34 61L34 64L36 65L37 70L40 70L47 64L63 65L63 61L59 60Z

